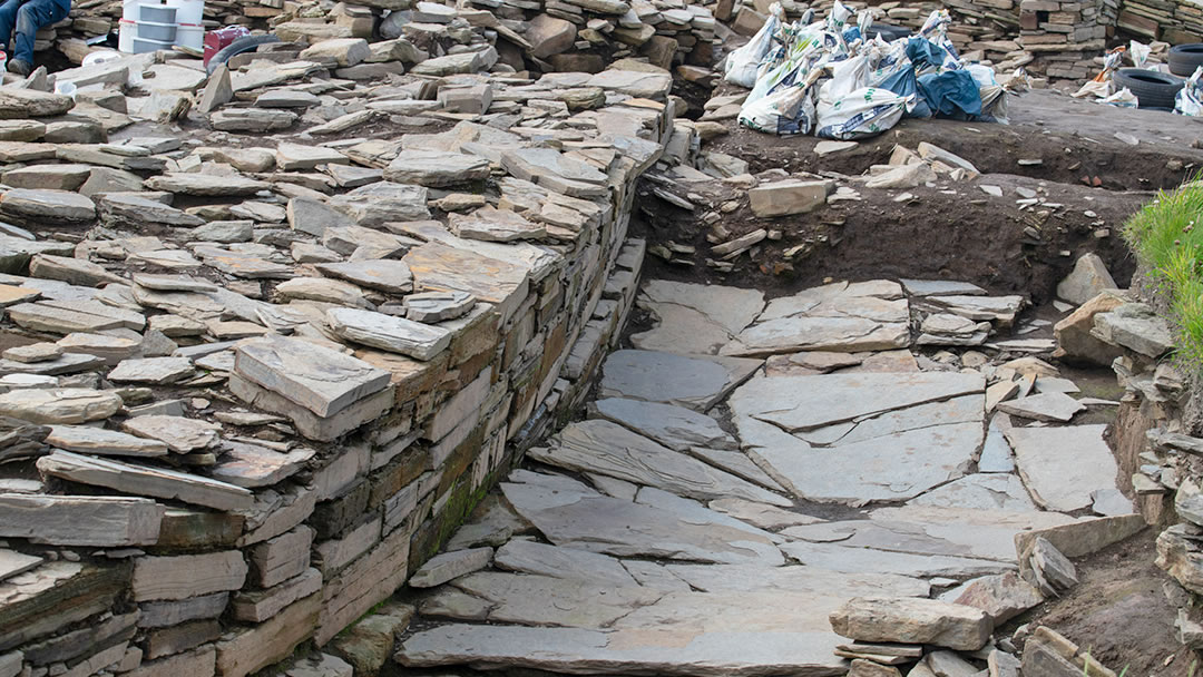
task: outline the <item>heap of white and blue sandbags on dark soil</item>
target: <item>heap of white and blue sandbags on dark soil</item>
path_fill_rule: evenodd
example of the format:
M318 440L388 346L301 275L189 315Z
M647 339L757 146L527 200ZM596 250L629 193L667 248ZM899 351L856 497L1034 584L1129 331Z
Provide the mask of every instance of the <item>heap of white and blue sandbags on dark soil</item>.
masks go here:
M994 70L967 64L948 40L948 11L918 35L869 38L869 11L849 26L838 0L824 20L786 23L778 4L760 31L730 54L728 82L748 87L740 124L778 135L837 139L875 136L903 117L1002 121L1007 89Z

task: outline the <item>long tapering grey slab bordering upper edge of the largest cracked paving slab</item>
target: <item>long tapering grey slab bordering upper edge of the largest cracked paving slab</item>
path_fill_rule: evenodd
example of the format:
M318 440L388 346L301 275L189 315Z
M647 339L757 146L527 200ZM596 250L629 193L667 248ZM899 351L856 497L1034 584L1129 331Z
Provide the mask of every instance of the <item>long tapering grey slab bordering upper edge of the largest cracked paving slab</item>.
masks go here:
M748 416L787 430L810 430L984 392L980 374L956 372L772 376L737 388L730 406L736 421Z

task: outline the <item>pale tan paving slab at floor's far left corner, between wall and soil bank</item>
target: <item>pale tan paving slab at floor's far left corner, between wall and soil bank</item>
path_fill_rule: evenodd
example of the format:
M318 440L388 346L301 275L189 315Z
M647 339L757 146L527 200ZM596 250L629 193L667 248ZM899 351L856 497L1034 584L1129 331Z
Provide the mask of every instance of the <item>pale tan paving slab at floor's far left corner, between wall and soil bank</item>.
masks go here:
M715 355L759 315L764 293L719 285L648 280L640 290L639 304L659 322L630 337L635 348Z

